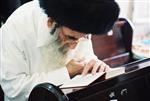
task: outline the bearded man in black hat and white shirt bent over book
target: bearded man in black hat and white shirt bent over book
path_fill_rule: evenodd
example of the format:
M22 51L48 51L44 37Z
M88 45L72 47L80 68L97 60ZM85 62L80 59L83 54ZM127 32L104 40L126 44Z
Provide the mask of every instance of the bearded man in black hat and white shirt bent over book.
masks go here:
M35 0L18 8L1 27L5 101L26 101L39 83L108 71L90 35L109 31L118 15L114 0Z

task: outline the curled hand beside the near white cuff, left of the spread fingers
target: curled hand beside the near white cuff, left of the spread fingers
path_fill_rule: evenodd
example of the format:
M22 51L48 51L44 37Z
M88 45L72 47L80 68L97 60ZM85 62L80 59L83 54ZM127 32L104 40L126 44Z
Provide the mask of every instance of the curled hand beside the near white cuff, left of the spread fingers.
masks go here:
M72 59L66 65L70 77L81 74L85 66L84 58Z

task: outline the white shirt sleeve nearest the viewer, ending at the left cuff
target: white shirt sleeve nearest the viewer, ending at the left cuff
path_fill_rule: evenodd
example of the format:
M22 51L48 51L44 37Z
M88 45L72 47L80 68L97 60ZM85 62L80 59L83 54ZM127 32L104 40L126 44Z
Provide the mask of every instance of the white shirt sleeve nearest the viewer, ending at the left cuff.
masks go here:
M31 75L22 50L18 48L20 41L15 37L17 31L11 27L7 24L0 30L2 37L0 83L10 101L26 101L33 87L39 83L61 85L70 79L66 67L53 72Z

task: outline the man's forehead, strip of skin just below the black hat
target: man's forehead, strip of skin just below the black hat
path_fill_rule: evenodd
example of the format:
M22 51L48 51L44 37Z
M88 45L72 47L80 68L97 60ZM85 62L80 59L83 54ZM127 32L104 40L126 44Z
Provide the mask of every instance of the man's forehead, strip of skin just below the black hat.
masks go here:
M70 28L64 27L64 26L62 27L62 30L65 35L74 36L76 38L87 36L86 33L77 32L77 31L71 30Z

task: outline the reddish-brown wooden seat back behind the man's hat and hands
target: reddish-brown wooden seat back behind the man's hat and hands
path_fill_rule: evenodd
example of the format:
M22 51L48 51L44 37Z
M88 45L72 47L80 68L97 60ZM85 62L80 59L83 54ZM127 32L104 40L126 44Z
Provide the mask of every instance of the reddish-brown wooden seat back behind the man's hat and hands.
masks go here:
M123 21L123 24L118 22ZM92 43L95 55L110 66L119 66L132 58L131 44L133 30L125 19L117 21L112 34L93 35Z

